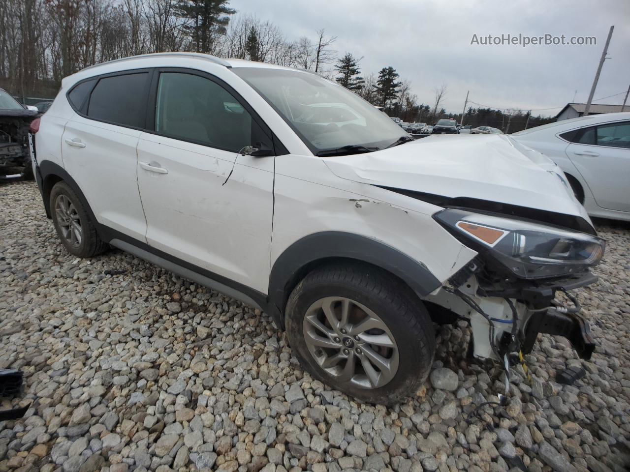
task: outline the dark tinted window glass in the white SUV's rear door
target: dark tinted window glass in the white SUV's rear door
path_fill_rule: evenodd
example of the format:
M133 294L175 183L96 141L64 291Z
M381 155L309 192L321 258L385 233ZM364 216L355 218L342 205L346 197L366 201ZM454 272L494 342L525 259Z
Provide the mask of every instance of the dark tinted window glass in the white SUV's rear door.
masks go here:
M141 72L100 79L89 98L89 118L144 128L148 77Z

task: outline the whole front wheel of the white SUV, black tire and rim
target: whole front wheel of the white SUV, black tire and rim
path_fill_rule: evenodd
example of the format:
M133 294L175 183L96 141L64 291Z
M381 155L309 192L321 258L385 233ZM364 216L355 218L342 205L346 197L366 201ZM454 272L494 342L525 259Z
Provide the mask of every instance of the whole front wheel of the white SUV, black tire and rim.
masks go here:
M348 323L341 324L346 303L350 307ZM335 320L341 323L333 328L320 305L331 307L329 312L338 313ZM362 331L358 325L366 316L374 328ZM321 319L324 321L319 322L328 330L329 337L309 321ZM362 402L386 405L401 402L418 390L433 363L435 334L424 305L408 286L372 266L336 264L309 273L289 296L285 324L290 346L304 369ZM347 327L345 331L343 326ZM314 338L335 347L314 346ZM367 342L378 340L382 345L386 344L382 342L386 338L386 343L393 347ZM371 376L364 368L365 360L374 359L375 352L391 367L389 371L378 371L377 380L374 380L376 364L368 361L372 366ZM343 375L348 373L350 356L355 368L348 380L348 375L346 378ZM335 359L340 361L330 366L328 361Z

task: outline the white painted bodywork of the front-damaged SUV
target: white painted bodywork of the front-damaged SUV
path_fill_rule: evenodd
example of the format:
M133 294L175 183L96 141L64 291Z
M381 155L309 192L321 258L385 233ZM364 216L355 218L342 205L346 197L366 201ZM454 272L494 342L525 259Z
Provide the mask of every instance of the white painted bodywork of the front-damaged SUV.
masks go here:
M353 233L397 249L442 284L477 256L435 221L442 207L383 187L537 208L590 223L558 167L505 136L427 137L369 154L318 157L226 64L283 69L164 53L66 77L35 136L38 160L59 164L76 179L98 223L265 295L280 255L323 231ZM227 82L287 154L252 157L100 123L77 115L67 102L66 92L81 79L153 67L200 70ZM440 288L431 296L452 298ZM471 297L499 307L497 316L508 323L512 319L502 299ZM517 310L524 313L524 305L517 303ZM485 338L475 344L479 356L488 355Z

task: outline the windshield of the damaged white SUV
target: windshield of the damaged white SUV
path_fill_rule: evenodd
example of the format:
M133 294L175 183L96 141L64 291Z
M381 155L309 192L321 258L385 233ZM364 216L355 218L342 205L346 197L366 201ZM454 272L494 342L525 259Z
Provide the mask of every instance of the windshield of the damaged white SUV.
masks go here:
M405 134L372 104L315 74L261 68L232 72L270 103L314 154L343 147L384 149Z

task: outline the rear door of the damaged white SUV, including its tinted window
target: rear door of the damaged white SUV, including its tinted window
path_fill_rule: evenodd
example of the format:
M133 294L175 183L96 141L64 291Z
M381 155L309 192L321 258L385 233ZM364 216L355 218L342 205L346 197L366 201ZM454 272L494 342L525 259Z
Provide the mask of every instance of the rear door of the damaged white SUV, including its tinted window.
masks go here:
M146 119L150 76L149 70L132 70L79 82L68 97L76 114L66 123L61 140L64 167L98 222L142 242L146 220L136 148Z

